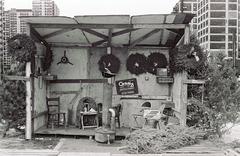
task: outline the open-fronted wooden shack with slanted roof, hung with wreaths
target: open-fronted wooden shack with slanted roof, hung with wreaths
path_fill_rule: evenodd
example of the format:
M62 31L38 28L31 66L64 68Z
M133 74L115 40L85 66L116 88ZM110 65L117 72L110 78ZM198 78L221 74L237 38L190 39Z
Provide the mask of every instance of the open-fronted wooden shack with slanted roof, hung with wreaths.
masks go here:
M77 106L86 97L103 104L103 123L110 106L123 106L121 127L129 128L135 124L132 114L139 111L144 102L150 102L151 107L157 109L162 102L172 101L181 113L181 124L185 125L187 90L183 81L187 79L186 74L175 74L173 81L159 83L157 75L130 73L126 62L136 53L146 57L161 53L169 62L169 50L189 42L192 18L193 14L186 13L22 17L28 24L28 35L37 45L37 54L31 61L35 69L31 71L31 92L28 92L26 138L31 139L40 129L44 129L42 134L49 133L46 131L46 97L60 97L61 110L67 114L67 127L59 132L63 134L75 125ZM44 60L50 52L51 65L43 71ZM99 59L106 54L120 60L120 70L112 78L103 77L99 70ZM67 63L61 62L64 56ZM129 79L136 80L137 92L119 95L115 82Z

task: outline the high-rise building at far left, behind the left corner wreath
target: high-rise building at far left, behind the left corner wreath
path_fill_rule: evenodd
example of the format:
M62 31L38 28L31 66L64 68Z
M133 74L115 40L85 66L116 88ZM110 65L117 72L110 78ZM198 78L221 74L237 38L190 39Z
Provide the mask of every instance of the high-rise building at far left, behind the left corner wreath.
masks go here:
M20 19L20 16L32 16L31 9L11 9L4 11L3 14L3 70L11 68L12 59L8 55L7 41L16 34L26 33L26 23Z

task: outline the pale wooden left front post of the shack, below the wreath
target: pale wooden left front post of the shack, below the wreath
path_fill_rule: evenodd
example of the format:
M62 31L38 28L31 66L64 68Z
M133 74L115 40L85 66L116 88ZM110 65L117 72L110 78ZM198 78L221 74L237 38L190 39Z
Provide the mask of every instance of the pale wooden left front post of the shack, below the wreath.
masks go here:
M31 63L26 64L26 77L30 77L31 74ZM25 129L25 139L32 139L32 114L31 114L31 81L26 81L26 129Z

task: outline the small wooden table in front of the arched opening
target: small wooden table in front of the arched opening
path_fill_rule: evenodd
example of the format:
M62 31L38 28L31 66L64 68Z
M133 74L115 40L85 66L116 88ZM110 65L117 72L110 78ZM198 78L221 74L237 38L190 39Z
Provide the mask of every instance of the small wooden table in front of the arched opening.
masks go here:
M93 118L93 124L91 125L84 125L84 119L90 119ZM97 112L80 112L80 122L82 129L84 128L94 128L98 127L98 113Z

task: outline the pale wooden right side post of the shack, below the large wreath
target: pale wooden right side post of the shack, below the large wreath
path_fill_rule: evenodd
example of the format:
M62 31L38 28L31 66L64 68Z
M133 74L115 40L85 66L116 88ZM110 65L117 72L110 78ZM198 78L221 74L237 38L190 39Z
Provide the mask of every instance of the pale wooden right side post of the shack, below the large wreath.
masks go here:
M174 84L172 87L173 102L175 103L176 110L180 112L177 114L180 119L180 125L186 126L187 115L187 84L184 81L187 79L187 73L174 74Z

